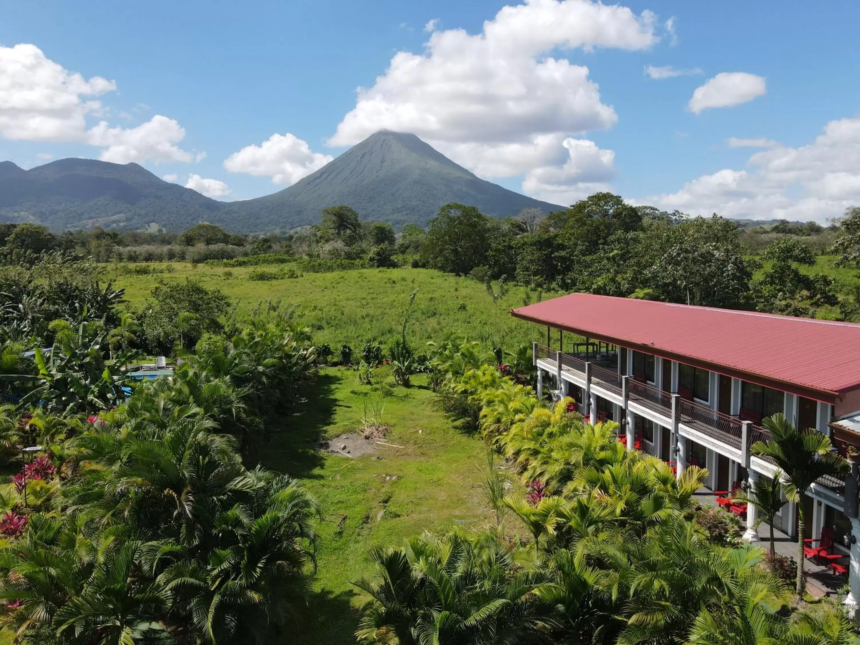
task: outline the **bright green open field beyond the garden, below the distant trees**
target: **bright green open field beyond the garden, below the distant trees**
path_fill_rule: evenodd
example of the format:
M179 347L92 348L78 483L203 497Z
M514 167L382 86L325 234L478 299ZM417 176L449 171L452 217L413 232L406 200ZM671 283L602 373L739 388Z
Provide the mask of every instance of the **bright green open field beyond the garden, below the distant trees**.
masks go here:
M157 263L147 266L156 270L165 267ZM244 314L261 300L294 304L301 322L313 329L314 341L329 343L335 353L341 343L360 350L366 341L385 344L394 340L400 335L403 312L415 289L418 295L408 336L418 353L427 341L448 338L481 341L488 347L506 349L539 340L540 329L513 319L509 310L555 295L511 286L507 296L494 305L480 282L429 269L359 269L255 281L248 279L255 267L222 269L185 262L172 267L172 273L146 275L124 275L116 267L109 271L116 286L125 287L126 298L134 308L144 303L158 279L187 278L221 289Z

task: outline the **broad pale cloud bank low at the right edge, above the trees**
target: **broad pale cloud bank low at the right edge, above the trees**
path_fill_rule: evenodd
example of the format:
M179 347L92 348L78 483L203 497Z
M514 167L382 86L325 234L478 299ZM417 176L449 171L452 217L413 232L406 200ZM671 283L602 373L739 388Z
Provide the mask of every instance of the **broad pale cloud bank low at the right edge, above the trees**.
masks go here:
M756 152L746 169L703 175L642 202L695 215L825 223L860 202L860 119L831 121L811 144Z

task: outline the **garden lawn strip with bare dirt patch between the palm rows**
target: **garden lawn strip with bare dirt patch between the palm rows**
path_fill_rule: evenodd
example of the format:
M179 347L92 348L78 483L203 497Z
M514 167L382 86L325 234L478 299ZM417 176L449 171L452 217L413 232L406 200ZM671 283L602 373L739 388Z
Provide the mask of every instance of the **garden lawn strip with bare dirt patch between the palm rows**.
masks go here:
M451 428L433 407L425 377L415 377L408 389L394 387L383 367L376 380L360 385L352 370L324 370L300 414L287 418L247 460L301 478L322 505L314 593L294 643L355 642L365 598L350 583L371 570L365 556L373 546L492 521L481 485L482 441ZM319 439L359 428L368 397L384 404L391 426L384 441L403 447L380 445L375 455L361 458L317 451Z

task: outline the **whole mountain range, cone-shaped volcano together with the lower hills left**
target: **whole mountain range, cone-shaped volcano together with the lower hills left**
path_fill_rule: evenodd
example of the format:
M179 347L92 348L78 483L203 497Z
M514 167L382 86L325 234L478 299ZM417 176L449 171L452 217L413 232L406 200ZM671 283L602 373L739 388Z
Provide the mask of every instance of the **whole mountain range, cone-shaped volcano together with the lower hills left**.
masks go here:
M53 230L185 230L199 222L237 232L292 230L318 223L323 208L339 204L363 219L424 225L452 201L494 217L529 207L561 208L479 179L414 134L400 132L373 134L279 193L234 202L163 181L137 163L60 159L29 170L0 163L0 220Z

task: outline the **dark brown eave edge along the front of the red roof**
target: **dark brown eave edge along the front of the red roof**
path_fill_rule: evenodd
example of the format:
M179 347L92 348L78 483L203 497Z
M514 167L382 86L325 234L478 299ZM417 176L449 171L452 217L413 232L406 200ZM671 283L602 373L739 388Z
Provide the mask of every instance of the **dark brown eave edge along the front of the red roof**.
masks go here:
M596 341L608 342L611 345L617 345L618 347L627 347L628 349L632 349L637 352L650 353L654 356L660 356L660 358L662 359L675 360L680 363L685 363L685 365L701 367L705 370L710 370L710 372L717 372L719 374L723 374L732 378L740 378L741 380L748 381L749 383L762 385L773 390L783 390L789 392L790 394L814 399L815 401L834 404L841 398L839 392L834 392L832 390L819 390L818 388L809 387L808 385L790 383L788 381L782 381L777 378L770 378L762 374L746 372L731 365L722 365L720 363L697 359L695 357L686 356L684 354L669 352L667 350L660 349L659 347L637 343L624 338L615 338L611 335L600 334L590 329L579 329L569 325L561 324L559 322L542 320L535 316L528 316L522 314L518 310L511 310L511 316L519 318L520 320L534 322L544 327L550 327L552 329L561 329L562 331L567 331L571 334L577 334L585 336L587 338L593 338Z

